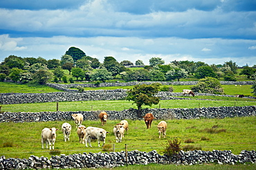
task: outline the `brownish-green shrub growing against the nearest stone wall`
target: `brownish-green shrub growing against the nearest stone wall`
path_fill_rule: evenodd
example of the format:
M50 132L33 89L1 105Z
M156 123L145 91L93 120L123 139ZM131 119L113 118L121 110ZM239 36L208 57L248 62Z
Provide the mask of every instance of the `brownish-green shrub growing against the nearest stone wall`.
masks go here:
M167 140L167 144L163 145L164 151L163 153L167 154L167 156L174 156L181 151L181 140L175 138L174 140Z

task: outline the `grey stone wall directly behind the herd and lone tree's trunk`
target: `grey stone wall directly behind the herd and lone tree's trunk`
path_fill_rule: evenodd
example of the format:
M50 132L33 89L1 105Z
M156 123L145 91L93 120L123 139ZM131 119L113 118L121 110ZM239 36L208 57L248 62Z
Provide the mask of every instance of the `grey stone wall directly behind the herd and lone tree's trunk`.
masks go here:
M125 109L122 111L106 111L109 120L141 120L138 118L137 109ZM3 112L0 113L2 122L39 122L54 120L71 120L71 114L83 114L84 120L98 120L100 111L44 111L44 112ZM201 107L194 109L143 109L142 115L152 113L158 119L193 119L193 118L233 118L243 116L256 116L256 106L246 107Z

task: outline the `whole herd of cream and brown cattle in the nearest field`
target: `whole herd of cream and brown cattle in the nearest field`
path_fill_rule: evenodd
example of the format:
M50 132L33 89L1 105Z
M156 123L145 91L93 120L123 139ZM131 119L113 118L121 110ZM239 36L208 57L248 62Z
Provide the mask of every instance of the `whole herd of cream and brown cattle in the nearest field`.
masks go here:
M80 143L86 145L88 147L87 142L89 142L89 146L91 147L91 139L98 140L98 147L100 147L100 141L103 142L102 147L105 144L106 141L106 135L109 134L109 131L105 131L104 129L100 127L85 127L82 125L82 121L84 120L84 116L82 114L72 114L71 115L73 120L75 121L76 129L77 129L77 136L79 137ZM108 114L105 111L101 111L99 118L102 123L102 125L105 125L107 123ZM155 119L153 114L145 114L143 116L145 120L145 124L147 125L147 129L151 127L152 121ZM116 136L116 142L122 142L122 138L125 136L125 131L129 130L129 124L127 120L122 120L120 123L117 123L113 127L113 134ZM158 134L159 138L161 138L161 134L163 134L163 137L166 136L166 129L167 129L167 123L165 121L161 121L157 125L158 127ZM71 134L71 125L69 123L63 123L62 124L62 132L64 134L64 142L67 140L69 141L69 136ZM55 127L52 128L44 128L42 130L42 149L44 149L44 143L46 144L46 148L48 149L54 149L54 144L56 140L56 131L59 129L56 129Z

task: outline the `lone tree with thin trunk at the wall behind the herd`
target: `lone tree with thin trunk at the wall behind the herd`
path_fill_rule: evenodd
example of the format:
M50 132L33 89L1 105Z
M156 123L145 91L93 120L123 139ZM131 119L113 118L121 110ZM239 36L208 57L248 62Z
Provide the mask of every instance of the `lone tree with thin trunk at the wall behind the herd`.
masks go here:
M134 85L132 89L127 91L126 100L132 100L138 107L138 117L141 117L141 108L143 105L157 105L160 101L155 95L160 89L160 83L152 83L151 85L139 84ZM134 104L133 103L133 104Z

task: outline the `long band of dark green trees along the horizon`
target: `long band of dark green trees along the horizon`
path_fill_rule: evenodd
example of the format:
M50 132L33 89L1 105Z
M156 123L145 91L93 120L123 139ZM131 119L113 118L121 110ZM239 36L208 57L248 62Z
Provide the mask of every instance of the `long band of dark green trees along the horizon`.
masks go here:
M143 67L140 70L130 70L129 67ZM86 55L77 47L70 47L61 59L46 60L42 57L20 57L10 55L0 65L0 81L12 80L21 83L45 84L53 80L57 83L74 83L77 81L105 82L113 78L122 78L124 81L180 81L181 78L194 76L201 79L205 77L223 78L224 81L237 81L238 65L227 61L223 65L208 65L198 61L165 61L159 57L149 59L149 65L137 60L135 65L131 61L120 63L113 56L105 56L103 63L96 58ZM49 70L53 70L50 72ZM67 80L64 70L68 70L71 78ZM247 78L256 77L256 65L243 67L239 74Z

